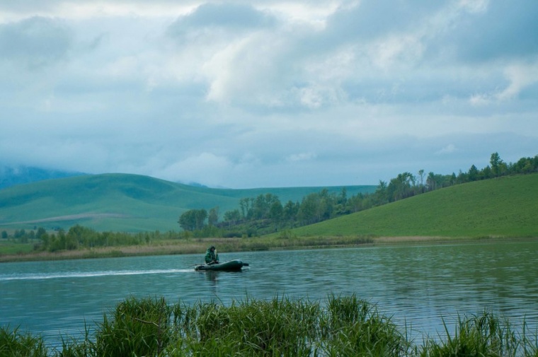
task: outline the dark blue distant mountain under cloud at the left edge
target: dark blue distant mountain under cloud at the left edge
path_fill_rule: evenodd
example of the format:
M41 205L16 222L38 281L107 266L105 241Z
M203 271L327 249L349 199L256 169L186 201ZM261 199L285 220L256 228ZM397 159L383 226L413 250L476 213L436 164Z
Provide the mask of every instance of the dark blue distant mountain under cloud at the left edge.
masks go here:
M85 175L82 172L69 172L61 170L47 170L32 166L0 166L0 189L14 185L51 180L62 177Z

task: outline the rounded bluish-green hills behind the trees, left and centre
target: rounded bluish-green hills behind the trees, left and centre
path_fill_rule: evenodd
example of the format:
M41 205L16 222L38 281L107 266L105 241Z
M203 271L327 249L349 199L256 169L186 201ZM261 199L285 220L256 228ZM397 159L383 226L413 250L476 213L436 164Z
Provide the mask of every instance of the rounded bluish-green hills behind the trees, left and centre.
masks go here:
M0 189L0 228L31 229L80 224L95 230L137 232L179 230L178 217L189 209L219 206L222 214L239 199L271 193L283 204L300 201L324 187L212 189L127 174L84 175ZM342 187L326 187L340 193ZM348 195L374 192L374 186L346 187Z

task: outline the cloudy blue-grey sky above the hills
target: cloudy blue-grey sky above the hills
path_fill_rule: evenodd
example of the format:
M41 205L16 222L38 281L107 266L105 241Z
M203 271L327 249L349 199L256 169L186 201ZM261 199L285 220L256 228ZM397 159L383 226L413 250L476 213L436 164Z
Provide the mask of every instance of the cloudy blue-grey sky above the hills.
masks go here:
M538 155L535 0L1 0L0 165L236 189Z

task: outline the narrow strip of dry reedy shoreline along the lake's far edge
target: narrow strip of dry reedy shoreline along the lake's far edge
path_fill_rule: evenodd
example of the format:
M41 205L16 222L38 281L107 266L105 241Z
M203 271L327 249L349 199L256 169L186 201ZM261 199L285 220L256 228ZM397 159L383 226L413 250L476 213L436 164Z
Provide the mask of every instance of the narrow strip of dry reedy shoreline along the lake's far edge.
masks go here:
M0 254L0 264L8 262L39 262L65 259L99 259L112 257L144 257L152 255L202 254L208 245L217 245L222 252L256 252L261 250L309 250L352 247L379 247L390 245L454 244L530 240L537 238L475 237L456 238L440 236L398 237L302 237L278 238L191 238L181 241L157 241L150 245L84 248L59 252L29 252Z

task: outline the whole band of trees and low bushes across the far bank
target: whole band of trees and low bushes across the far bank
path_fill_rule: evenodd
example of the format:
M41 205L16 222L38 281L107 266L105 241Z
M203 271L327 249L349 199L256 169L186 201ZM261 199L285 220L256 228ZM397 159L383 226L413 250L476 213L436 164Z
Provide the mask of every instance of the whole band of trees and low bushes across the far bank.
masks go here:
M45 228L15 230L12 235L3 230L2 239L18 242L34 242L34 250L56 252L91 247L114 247L120 245L151 244L153 240L176 239L182 237L244 237L256 236L275 231L287 230L312 223L326 221L350 213L363 211L382 204L406 199L435 189L462 183L488 180L506 175L520 175L538 172L538 156L520 158L515 163L505 163L498 153L491 154L490 165L478 169L475 165L467 172L461 170L456 175L425 174L403 172L389 182L379 181L373 193L358 193L348 197L345 187L337 194L322 189L307 194L299 201L284 204L275 194L260 194L239 200L238 207L219 216L219 207L212 209L191 209L178 219L183 232L160 233L159 230L144 233L98 232L83 226L73 226L65 231L55 228L50 233Z

